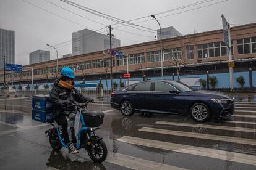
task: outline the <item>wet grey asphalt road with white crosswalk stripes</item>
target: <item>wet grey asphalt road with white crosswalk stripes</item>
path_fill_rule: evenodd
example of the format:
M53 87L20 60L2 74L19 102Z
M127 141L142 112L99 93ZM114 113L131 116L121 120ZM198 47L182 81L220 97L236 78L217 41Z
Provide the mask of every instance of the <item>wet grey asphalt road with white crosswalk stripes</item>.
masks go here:
M195 123L186 116L124 117L108 101L98 136L108 158L93 163L85 150L54 152L49 124L31 119L31 97L0 99L0 169L256 169L256 103L237 102L230 118Z

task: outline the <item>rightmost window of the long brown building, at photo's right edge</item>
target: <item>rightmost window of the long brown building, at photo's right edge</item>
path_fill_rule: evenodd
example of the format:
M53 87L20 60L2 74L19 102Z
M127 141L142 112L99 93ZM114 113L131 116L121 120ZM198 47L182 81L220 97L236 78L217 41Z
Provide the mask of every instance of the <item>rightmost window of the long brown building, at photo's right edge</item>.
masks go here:
M256 37L237 39L238 54L256 53Z

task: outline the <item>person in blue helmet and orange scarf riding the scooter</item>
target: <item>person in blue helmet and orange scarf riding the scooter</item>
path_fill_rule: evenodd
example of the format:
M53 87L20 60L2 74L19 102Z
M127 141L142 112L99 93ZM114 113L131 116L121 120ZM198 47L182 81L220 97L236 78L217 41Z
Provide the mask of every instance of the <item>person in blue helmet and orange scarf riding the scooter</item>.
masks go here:
M53 89L49 92L50 101L53 105L54 119L61 125L64 142L68 145L69 153L73 154L79 153L79 151L74 147L74 144L77 143L74 127L70 127L72 141L69 140L66 116L76 113L77 110L73 104L75 101L79 103L93 102L93 99L83 96L74 88L74 78L75 75L72 69L62 68L61 78L56 79Z

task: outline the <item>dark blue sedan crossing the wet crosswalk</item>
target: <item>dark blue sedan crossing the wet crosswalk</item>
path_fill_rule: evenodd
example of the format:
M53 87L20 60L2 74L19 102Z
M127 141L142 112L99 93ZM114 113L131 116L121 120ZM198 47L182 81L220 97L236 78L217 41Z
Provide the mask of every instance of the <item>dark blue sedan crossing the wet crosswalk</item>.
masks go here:
M231 116L234 98L215 91L195 90L177 81L142 81L111 94L111 107L134 112L190 115L195 121Z

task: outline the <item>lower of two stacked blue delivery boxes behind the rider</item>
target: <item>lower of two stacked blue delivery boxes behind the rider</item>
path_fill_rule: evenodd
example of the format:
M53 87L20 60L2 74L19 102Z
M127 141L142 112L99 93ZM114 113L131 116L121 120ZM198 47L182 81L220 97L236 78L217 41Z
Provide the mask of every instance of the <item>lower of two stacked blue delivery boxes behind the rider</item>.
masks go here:
M41 122L53 121L53 112L32 109L32 119Z

